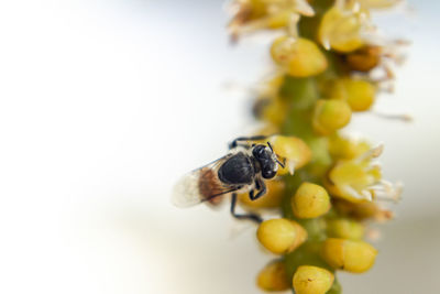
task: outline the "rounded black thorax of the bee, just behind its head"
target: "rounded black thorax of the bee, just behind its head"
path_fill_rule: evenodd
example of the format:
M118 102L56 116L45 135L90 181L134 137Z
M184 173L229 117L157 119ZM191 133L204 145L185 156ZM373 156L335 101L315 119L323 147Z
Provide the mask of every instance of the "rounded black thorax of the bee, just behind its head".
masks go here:
M240 152L221 165L218 175L220 181L227 184L251 184L255 172L251 159Z

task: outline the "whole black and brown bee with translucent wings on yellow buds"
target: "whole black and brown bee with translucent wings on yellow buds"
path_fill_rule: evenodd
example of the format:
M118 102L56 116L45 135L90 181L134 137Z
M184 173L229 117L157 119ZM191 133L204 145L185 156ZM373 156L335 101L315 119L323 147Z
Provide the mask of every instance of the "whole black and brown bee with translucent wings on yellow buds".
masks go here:
M183 176L174 187L174 205L190 207L200 203L212 203L218 197L230 194L231 215L234 218L261 222L262 218L258 215L235 213L235 205L239 193L249 193L251 200L266 194L264 181L276 176L278 165L284 167L270 142L250 144L266 138L237 138L229 145L230 152L226 156Z

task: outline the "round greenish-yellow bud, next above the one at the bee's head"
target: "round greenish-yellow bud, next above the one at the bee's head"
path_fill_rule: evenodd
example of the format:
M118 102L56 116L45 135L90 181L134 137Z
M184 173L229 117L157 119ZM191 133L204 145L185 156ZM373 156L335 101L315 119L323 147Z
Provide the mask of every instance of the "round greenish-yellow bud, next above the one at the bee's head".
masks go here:
M315 105L314 129L320 134L331 134L345 127L351 119L350 106L343 100L320 99Z

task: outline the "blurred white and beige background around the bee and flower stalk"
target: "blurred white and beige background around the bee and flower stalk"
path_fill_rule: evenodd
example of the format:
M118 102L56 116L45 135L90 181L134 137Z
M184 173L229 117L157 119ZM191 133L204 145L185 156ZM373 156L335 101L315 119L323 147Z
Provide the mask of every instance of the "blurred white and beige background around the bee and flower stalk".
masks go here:
M272 257L227 208L177 209L173 184L252 130L268 43L231 46L221 0L0 3L0 293L260 293ZM395 94L348 132L384 142L405 183L377 262L344 293L438 293L440 58L435 0L378 13L413 42ZM240 87L239 87L240 88Z

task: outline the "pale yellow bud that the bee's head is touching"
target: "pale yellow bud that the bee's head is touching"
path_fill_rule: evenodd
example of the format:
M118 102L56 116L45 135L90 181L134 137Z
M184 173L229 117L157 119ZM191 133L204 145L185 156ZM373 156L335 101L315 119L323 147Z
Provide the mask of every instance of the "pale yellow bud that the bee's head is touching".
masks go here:
M278 175L293 173L294 170L306 165L311 159L309 146L299 138L292 135L273 135L268 140L277 156L286 160L284 167L278 170Z

